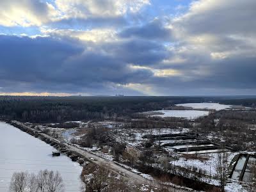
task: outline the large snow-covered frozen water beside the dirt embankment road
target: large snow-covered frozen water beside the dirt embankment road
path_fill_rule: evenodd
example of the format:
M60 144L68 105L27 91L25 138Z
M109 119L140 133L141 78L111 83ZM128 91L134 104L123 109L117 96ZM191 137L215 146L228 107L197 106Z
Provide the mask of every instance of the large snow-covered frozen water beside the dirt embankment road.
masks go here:
M80 191L82 167L67 156L52 157L51 145L0 122L0 191L8 191L13 172L60 172L65 191Z

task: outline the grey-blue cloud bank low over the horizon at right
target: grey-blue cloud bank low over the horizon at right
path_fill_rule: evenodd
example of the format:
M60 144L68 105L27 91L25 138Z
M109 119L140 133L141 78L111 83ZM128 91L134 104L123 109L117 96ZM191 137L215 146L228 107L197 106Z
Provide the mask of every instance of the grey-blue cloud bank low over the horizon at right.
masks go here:
M180 68L177 67L182 71L181 76L152 77L147 83L157 84L155 91L164 92L166 95L225 95L239 94L242 90L246 91L246 94L255 94L255 62L256 57L211 61L207 65L208 73L205 75L200 72L202 66L186 68L184 66L189 66L190 63L184 63Z

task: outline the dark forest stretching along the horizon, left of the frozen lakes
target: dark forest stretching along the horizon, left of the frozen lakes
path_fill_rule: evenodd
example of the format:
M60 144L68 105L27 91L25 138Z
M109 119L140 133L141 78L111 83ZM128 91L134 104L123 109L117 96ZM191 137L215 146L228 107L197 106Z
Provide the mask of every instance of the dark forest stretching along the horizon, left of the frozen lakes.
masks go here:
M0 96L0 116L23 122L49 123L131 116L204 97L24 97Z

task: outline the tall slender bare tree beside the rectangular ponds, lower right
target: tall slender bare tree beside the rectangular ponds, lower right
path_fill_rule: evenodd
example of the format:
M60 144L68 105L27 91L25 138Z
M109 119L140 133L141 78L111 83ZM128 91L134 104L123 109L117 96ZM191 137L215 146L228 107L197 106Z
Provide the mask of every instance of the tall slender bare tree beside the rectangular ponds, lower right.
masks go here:
M220 179L221 191L225 191L225 182L227 179L227 159L228 154L224 150L218 153L216 170Z

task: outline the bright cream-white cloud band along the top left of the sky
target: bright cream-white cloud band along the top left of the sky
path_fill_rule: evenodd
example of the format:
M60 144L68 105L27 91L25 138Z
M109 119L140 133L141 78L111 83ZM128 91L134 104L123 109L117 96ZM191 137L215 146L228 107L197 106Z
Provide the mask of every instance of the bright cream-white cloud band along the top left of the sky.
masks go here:
M12 26L94 26L120 25L128 13L137 13L149 0L2 0L0 25ZM98 26L99 27L99 26Z

